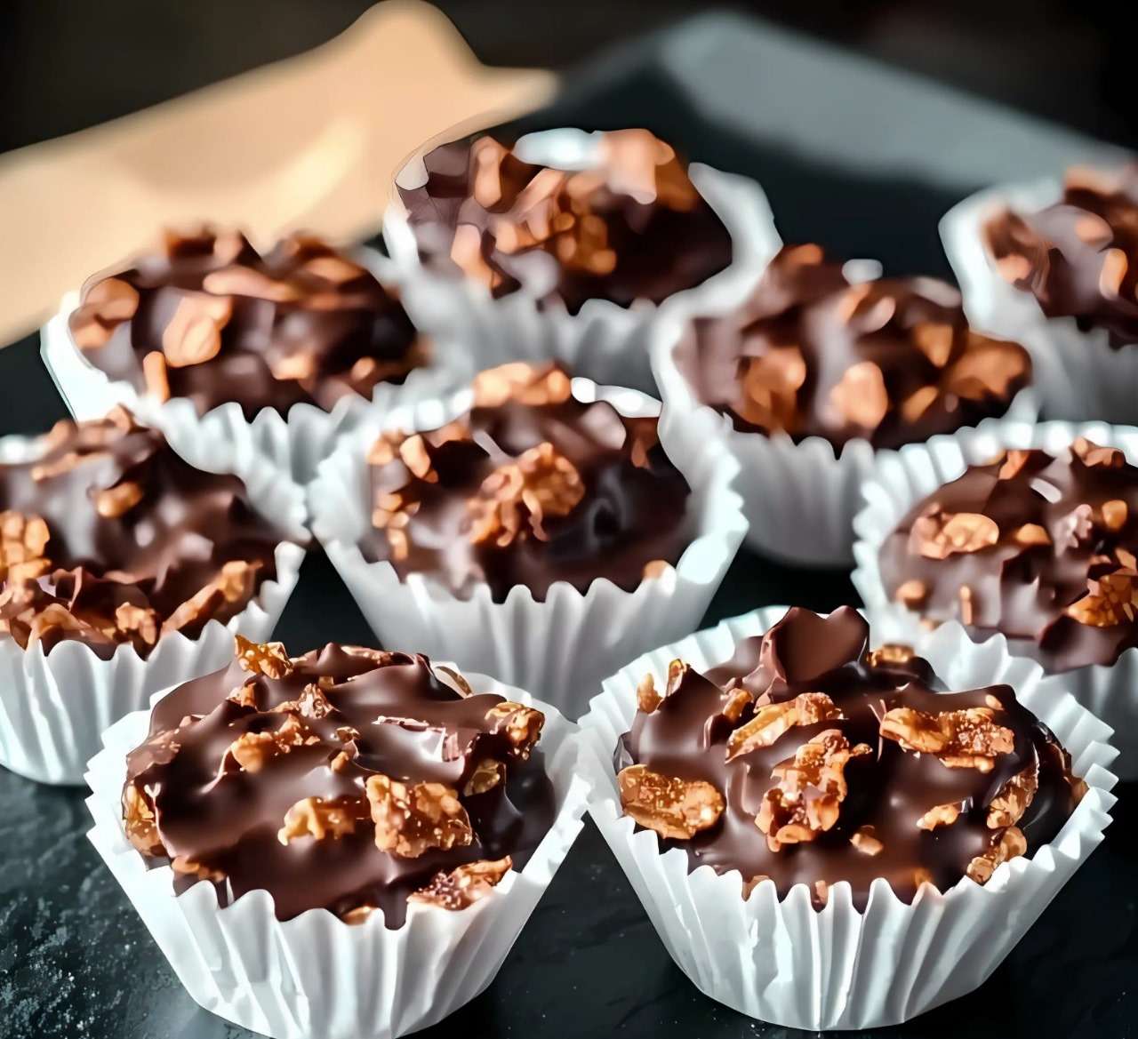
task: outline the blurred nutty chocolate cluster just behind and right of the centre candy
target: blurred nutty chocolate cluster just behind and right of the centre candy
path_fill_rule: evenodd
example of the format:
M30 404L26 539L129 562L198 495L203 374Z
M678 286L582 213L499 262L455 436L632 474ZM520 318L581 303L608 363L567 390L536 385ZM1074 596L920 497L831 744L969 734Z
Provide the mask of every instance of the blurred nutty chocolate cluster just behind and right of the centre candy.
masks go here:
M930 278L851 285L815 245L786 247L751 297L676 349L699 401L735 429L898 447L1007 411L1026 351L968 328Z

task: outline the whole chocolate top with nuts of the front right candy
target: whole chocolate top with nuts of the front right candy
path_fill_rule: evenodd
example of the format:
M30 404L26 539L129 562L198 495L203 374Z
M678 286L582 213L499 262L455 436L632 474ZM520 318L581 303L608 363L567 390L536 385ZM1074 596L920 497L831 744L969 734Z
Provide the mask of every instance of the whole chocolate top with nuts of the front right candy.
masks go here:
M984 883L1050 841L1086 785L1055 737L996 685L945 692L906 646L869 652L849 607L793 609L706 675L646 676L616 752L625 811L693 868L739 869L750 893L848 881L857 906L883 877Z

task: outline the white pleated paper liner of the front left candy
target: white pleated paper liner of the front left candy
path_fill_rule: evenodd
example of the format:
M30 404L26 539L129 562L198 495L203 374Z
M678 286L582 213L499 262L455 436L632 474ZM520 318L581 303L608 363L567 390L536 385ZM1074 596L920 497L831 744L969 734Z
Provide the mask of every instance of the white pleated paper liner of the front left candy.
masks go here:
M86 775L88 835L197 1003L273 1039L386 1039L440 1021L494 980L580 832L588 784L576 726L519 690L467 677L480 692L545 711L538 745L558 814L525 868L490 894L456 913L412 905L398 930L385 927L381 910L358 925L325 909L282 923L266 891L224 908L208 883L175 896L171 868L147 869L122 826L125 757L146 739L149 712L127 715L105 734Z

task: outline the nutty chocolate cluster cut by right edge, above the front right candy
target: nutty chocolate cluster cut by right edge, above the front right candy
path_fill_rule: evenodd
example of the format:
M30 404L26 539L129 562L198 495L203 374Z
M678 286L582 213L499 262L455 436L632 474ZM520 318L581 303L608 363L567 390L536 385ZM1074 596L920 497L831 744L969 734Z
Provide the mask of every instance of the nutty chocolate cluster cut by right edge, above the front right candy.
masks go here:
M1079 439L1008 451L915 505L881 547L887 593L999 632L1049 671L1138 645L1138 468Z

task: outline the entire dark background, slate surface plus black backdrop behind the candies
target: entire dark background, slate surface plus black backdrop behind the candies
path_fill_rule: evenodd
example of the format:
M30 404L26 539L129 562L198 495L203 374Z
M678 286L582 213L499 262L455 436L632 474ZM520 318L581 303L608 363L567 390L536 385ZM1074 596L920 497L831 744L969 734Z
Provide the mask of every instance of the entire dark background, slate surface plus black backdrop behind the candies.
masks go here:
M240 3L9 0L0 8L0 149L65 133L347 25L357 0ZM440 5L487 61L562 67L693 6L659 0ZM737 5L736 7L742 7ZM749 6L847 44L819 49L758 22L703 18L603 55L536 122L646 123L688 152L758 176L787 240L946 273L935 222L988 181L1094 154L1077 133L866 64L884 58L1127 145L1124 31L1086 5L866 2ZM945 6L946 9L949 6ZM856 8L856 14L853 13ZM852 55L852 57L851 57ZM530 121L534 122L534 121ZM64 414L31 337L0 352L0 434ZM844 572L733 566L708 621L775 602L855 602ZM278 635L294 651L370 641L323 555L305 564ZM978 992L906 1037L1095 1036L1138 1030L1136 844L1122 791L1105 846ZM247 1036L199 1009L85 839L79 790L0 770L0 1037ZM445 1036L781 1037L701 996L671 964L595 830L586 828L490 989Z

